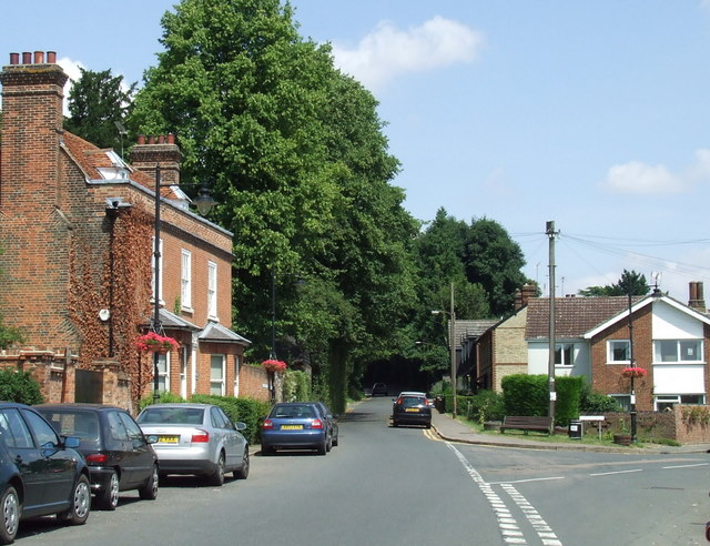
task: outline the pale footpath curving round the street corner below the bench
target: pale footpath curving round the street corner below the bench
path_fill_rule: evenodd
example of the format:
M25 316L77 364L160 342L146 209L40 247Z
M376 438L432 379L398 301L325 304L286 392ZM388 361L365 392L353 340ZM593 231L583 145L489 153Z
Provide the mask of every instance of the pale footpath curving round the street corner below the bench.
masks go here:
M594 426L594 425L591 425ZM669 446L660 444L640 444L640 446L604 446L585 444L581 439L574 442L548 442L536 439L539 433L531 432L509 432L505 434L483 434L450 414L432 411L432 427L436 434L448 442L463 444L486 445L496 447L518 447L528 449L560 449L560 451L582 451L601 453L633 453L633 454L682 454L682 453L710 453L710 444L687 444L681 446Z

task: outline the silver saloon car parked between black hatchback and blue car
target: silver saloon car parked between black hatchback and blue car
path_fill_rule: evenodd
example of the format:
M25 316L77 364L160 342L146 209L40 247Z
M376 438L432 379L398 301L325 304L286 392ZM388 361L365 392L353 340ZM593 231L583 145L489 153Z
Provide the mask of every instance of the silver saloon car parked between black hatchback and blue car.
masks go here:
M153 448L162 476L192 474L217 486L227 472L237 479L248 476L248 442L240 432L246 425L232 423L219 406L154 404L136 421L145 435L155 436Z

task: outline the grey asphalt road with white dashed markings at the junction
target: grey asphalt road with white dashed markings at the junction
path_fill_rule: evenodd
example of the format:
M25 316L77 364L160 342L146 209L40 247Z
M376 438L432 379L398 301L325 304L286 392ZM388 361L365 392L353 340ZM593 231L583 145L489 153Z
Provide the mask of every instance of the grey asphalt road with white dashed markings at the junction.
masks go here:
M450 444L392 428L387 397L341 421L326 456L256 455L223 487L169 478L82 527L24 524L18 544L707 544L708 455L639 456Z

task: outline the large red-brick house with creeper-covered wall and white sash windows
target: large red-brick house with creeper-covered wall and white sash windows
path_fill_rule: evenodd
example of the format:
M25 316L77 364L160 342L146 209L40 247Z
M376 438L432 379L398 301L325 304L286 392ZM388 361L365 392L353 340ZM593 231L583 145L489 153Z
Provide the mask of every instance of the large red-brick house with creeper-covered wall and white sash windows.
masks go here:
M130 391L108 400L104 381L82 400L126 406L152 391L152 355L135 338L152 322L160 164L160 318L181 344L160 356L160 390L240 394L250 342L231 330L232 233L190 210L172 135L139 140L129 164L64 131L68 77L55 59L11 53L0 72L0 314L26 337L0 365L44 363L33 373L51 402L74 401L79 371L110 368ZM61 388L49 384L55 375ZM247 375L245 387L266 397L264 378Z

